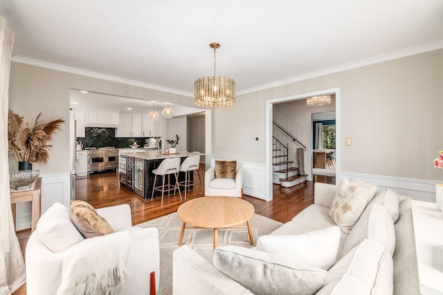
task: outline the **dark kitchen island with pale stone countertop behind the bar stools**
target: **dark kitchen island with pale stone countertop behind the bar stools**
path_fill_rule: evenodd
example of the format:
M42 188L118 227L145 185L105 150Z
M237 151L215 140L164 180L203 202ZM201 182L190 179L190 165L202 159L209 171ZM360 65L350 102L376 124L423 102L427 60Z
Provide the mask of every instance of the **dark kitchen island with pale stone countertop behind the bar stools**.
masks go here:
M121 184L134 190L135 193L146 200L151 198L154 187L154 174L152 171L156 169L163 160L167 158L181 158L181 162L183 162L191 155L204 155L204 153L188 151L170 154L161 150L135 150L136 151L122 149L119 151L119 179ZM185 175L182 174L183 173L179 173L179 182L185 179ZM161 178L157 178L156 185L161 185L161 181ZM171 184L174 184L175 178L170 178L170 181ZM183 187L181 187L181 190L183 190ZM156 191L154 197L156 196L161 196L161 192Z

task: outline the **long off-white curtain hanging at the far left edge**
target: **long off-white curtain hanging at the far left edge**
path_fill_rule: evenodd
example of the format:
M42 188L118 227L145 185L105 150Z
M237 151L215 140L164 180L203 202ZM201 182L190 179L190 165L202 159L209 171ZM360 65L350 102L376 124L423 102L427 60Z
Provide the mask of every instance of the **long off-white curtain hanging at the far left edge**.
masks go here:
M8 164L9 73L14 32L0 17L0 294L11 294L26 280L25 264L12 220Z

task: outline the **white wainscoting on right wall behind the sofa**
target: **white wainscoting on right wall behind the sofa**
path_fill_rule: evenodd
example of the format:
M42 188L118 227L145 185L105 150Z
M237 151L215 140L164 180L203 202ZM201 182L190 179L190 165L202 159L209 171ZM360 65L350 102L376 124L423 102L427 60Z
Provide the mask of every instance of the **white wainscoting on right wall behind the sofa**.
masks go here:
M435 182L413 178L395 178L381 175L368 175L360 173L341 172L341 178L359 178L365 182L377 184L380 189L392 189L400 195L413 197L414 200L435 202ZM337 182L339 183L339 181Z

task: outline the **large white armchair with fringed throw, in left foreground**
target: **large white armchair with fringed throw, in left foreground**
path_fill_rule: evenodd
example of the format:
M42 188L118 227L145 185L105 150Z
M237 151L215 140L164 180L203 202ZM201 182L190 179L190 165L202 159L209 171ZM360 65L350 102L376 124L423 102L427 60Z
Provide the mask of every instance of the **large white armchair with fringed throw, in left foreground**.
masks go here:
M57 294L66 271L66 259L69 254L72 256L73 253L78 253L76 250L87 249L93 253L92 257L84 255L87 259L80 260L79 264L86 269L88 263L91 263L88 260L93 260L96 264L107 263L109 260L109 256L106 256L106 252L109 255L107 250L119 248L125 243L123 260L128 276L125 282L121 283L118 294L150 294L151 272L156 274L156 289L159 289L158 230L132 227L131 209L127 204L96 209L96 211L116 231L114 234L84 239L69 219L69 208L60 203L53 204L42 215L37 223L37 229L30 235L26 245L28 295ZM125 240L121 238L122 236ZM62 292L62 294L69 293Z

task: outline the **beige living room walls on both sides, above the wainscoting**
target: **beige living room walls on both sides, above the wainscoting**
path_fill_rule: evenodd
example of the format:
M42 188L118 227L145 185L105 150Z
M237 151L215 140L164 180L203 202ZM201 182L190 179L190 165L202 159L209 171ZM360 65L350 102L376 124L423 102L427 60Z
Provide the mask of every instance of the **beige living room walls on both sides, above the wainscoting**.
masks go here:
M266 99L339 87L342 172L441 180L432 160L443 149L442 81L443 50L435 50L238 95L235 106L213 113L213 157L264 163ZM191 97L13 62L10 108L28 121L39 111L45 120L68 120L70 88L194 106ZM352 146L344 145L345 137ZM53 145L50 162L35 169L69 171L67 124Z

